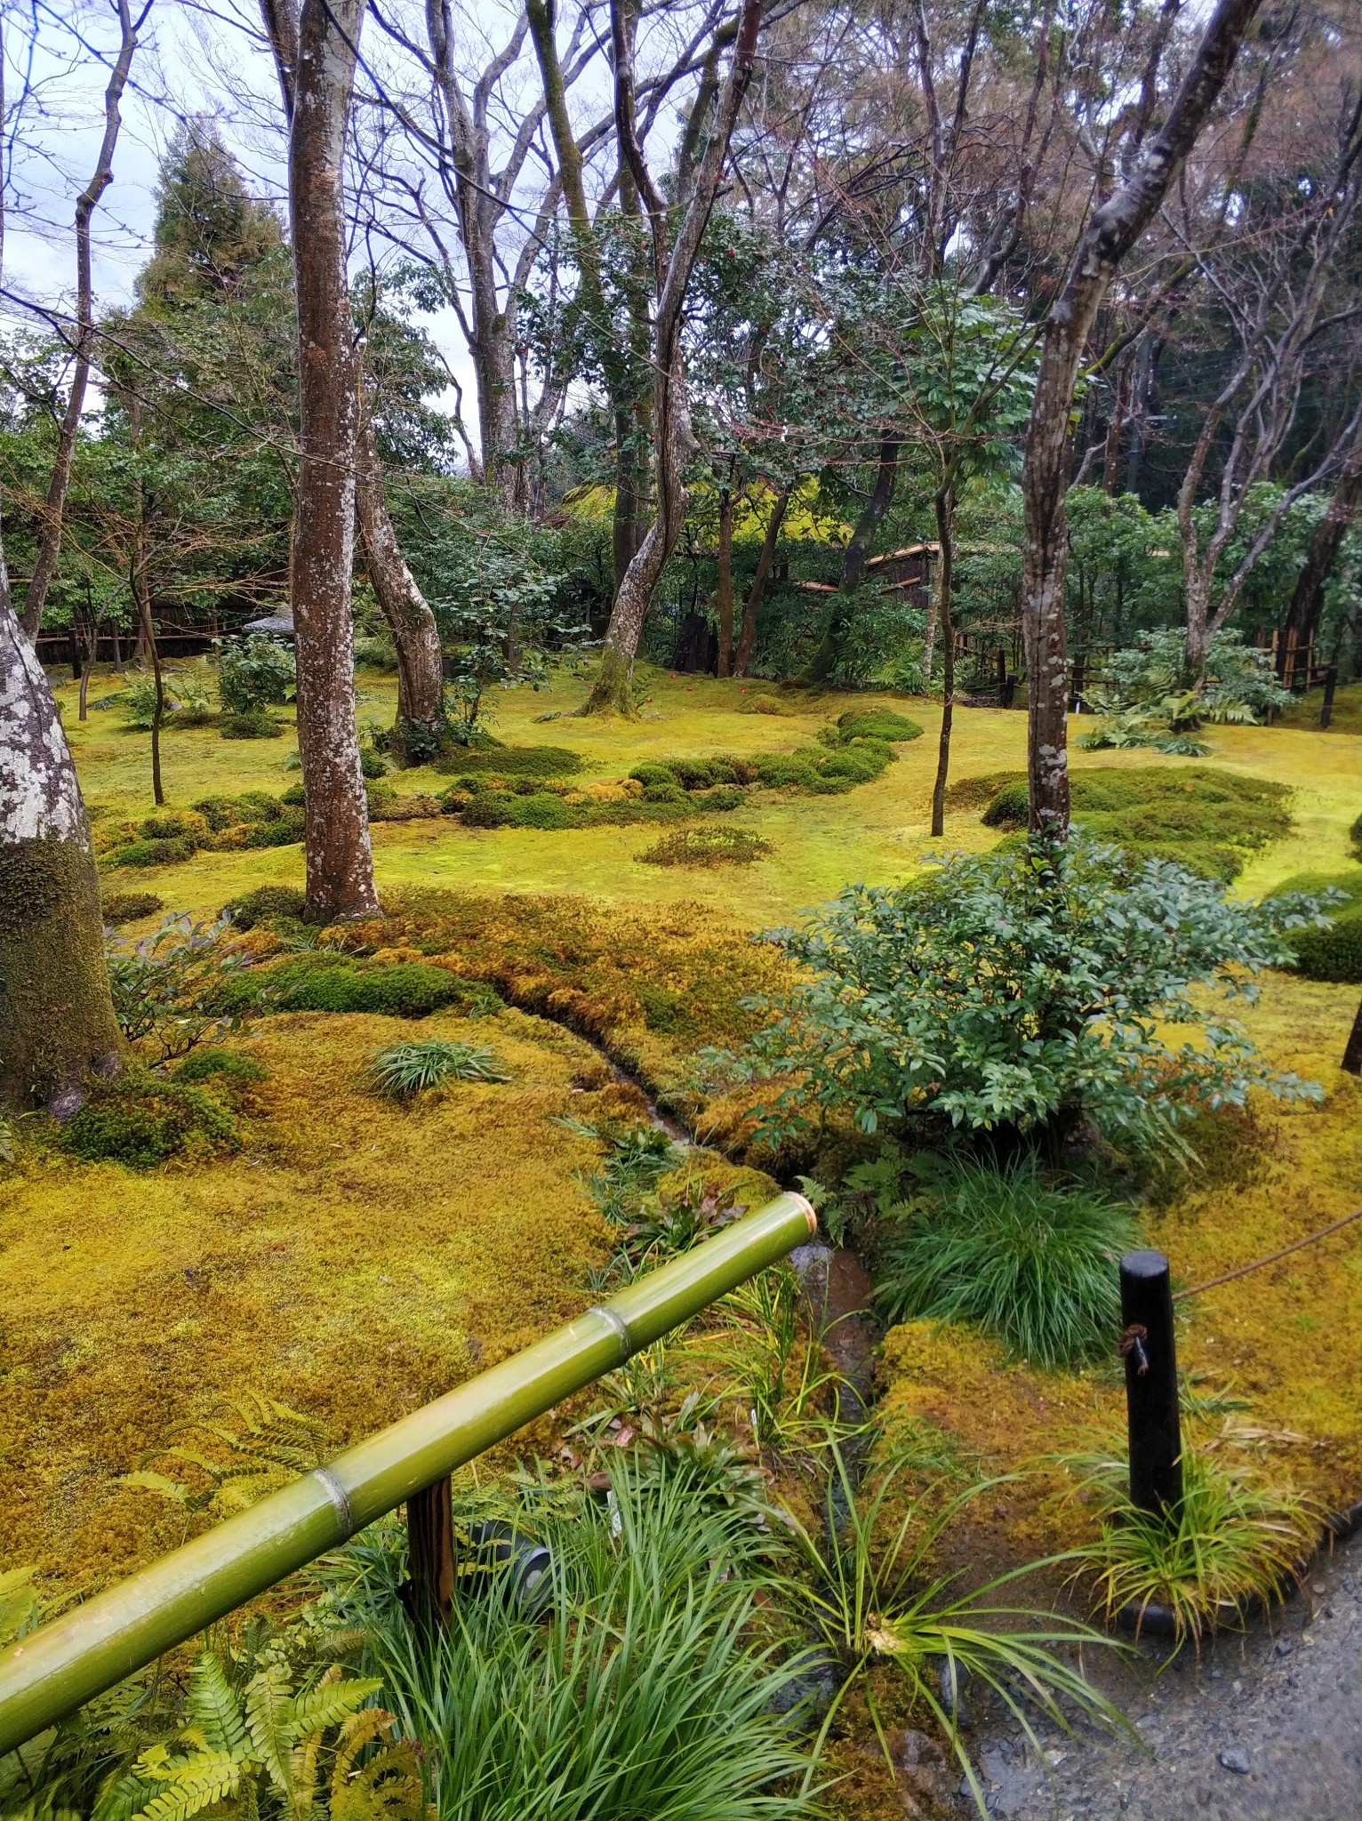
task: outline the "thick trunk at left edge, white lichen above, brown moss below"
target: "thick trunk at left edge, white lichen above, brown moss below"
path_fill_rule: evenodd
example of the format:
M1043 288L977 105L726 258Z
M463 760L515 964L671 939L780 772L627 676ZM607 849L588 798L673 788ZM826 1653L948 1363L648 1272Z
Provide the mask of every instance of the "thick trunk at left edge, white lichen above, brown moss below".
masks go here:
M120 1047L86 805L0 554L0 1104L69 1116Z

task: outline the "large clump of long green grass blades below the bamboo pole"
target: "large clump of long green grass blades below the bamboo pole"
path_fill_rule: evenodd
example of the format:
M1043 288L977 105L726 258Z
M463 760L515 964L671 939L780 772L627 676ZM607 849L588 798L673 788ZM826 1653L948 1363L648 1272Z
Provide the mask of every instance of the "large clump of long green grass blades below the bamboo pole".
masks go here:
M608 1504L561 1488L528 1510L455 1504L546 1544L537 1615L495 1584L413 1626L397 1524L326 1575L371 1639L384 1695L426 1754L441 1821L756 1821L810 1812L808 1761L779 1708L807 1668L750 1639L767 1548L699 1473L612 1460Z

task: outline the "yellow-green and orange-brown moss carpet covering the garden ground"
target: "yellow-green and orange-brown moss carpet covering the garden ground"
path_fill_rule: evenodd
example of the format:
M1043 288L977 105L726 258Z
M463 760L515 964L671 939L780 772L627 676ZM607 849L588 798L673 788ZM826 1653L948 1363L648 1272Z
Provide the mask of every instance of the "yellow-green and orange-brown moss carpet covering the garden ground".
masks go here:
M113 692L109 683L106 692ZM76 723L62 688L97 827L151 812L147 736L117 710ZM91 688L98 699L102 687ZM391 717L393 683L362 677L361 716ZM847 697L650 674L643 717L575 719L586 685L499 699L510 745L581 756L574 785L625 779L674 754L794 752L818 741ZM779 712L752 712L754 697ZM856 697L907 712L925 738L841 796L752 790L734 821L768 843L743 867L657 867L648 825L473 829L450 816L373 825L388 914L344 945L384 961L433 961L497 987L513 1007L484 1018L439 1011L421 1034L490 1043L512 1082L453 1085L399 1109L362 1082L366 1060L413 1025L377 1014L260 1018L244 1038L269 1069L244 1116L244 1147L211 1164L129 1173L78 1164L35 1140L0 1176L0 1524L5 1561L35 1561L66 1584L93 1584L169 1546L184 1515L118 1484L169 1429L224 1399L259 1391L319 1424L324 1450L432 1397L590 1300L588 1271L610 1251L581 1185L597 1147L563 1114L637 1116L588 1034L712 1142L741 1147L743 1107L706 1098L694 1058L745 1031L737 1000L779 967L748 934L832 896L850 880L894 881L920 867L940 707ZM552 714L552 721L543 717ZM1289 832L1249 854L1236 890L1260 894L1298 872L1340 870L1362 809L1362 732L1309 727L1213 728L1202 761L1289 785ZM206 796L297 783L291 728L279 739L222 739L213 725L164 738L169 809ZM981 850L992 788L1016 772L1025 716L956 716L947 836ZM1147 767L1147 752L1072 750L1083 772ZM401 798L448 787L433 768L395 774ZM106 892L147 890L166 909L208 916L259 885L302 883L297 845L197 852L173 865L109 869ZM157 914L126 925L140 934ZM1142 1218L1184 1282L1273 1251L1362 1204L1362 1096L1342 1076L1357 989L1273 976L1245 1023L1275 1062L1318 1080L1318 1107L1207 1122L1204 1167L1176 1178ZM630 1111L632 1109L632 1111ZM761 1162L761 1160L757 1160ZM772 1160L765 1160L772 1164ZM774 1167L774 1164L772 1164ZM759 1178L750 1182L761 1193ZM750 1196L747 1196L750 1198ZM1251 1400L1255 1442L1326 1502L1362 1491L1362 1235L1284 1260L1184 1304L1185 1364ZM960 1331L910 1324L883 1349L887 1408L938 1426L949 1448L1011 1470L1062 1446L1074 1424L1120 1419L1114 1362L1049 1377L1001 1360ZM532 1446L548 1446L541 1426ZM1009 1488L996 1553L1049 1548L1083 1515L1051 1499L1042 1475ZM976 1537L983 1555L987 1537Z

